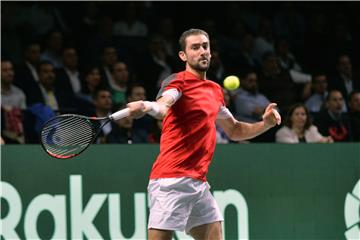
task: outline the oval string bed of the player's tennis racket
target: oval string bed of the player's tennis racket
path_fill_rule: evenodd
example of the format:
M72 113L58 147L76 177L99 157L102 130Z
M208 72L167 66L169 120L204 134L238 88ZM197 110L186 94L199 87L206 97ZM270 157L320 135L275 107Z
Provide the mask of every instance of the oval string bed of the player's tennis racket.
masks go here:
M42 142L57 157L68 157L83 151L93 140L94 128L86 118L55 118L43 128Z

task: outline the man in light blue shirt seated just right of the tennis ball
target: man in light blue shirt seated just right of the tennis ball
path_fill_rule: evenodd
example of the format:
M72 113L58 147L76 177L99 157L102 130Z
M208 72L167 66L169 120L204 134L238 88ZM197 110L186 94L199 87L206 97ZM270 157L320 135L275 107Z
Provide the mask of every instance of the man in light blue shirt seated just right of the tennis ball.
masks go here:
M236 119L250 123L261 121L270 101L259 92L257 74L250 70L240 78L241 86L233 93Z

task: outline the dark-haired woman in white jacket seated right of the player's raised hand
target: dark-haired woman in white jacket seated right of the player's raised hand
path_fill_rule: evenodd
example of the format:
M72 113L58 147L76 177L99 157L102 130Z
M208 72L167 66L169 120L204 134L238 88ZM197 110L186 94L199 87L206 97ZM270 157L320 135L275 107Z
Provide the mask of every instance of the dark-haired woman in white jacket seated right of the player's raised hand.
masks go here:
M312 125L309 111L302 103L290 107L285 126L276 132L279 143L331 143L333 139L321 135L316 126Z

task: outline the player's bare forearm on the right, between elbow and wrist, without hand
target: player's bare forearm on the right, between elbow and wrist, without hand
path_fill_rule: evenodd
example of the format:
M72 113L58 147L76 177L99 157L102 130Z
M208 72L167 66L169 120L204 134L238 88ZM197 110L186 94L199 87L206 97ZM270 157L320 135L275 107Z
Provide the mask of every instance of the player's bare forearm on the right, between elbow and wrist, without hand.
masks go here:
M257 123L236 122L229 137L233 141L247 140L266 132L270 128L271 126L266 125L264 121Z

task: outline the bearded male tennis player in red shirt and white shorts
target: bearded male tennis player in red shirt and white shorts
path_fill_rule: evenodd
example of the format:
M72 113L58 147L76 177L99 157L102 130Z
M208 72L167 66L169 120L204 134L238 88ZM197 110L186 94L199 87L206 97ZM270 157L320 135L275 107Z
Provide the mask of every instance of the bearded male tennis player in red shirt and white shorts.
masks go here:
M157 157L148 186L149 239L171 239L173 231L186 231L195 239L222 239L223 217L206 181L216 145L215 121L233 140L255 137L276 124L275 103L263 121L237 121L224 105L221 87L206 79L210 42L200 29L185 31L179 40L179 57L186 70L164 80L156 102L128 103L130 114L148 113L164 118Z

